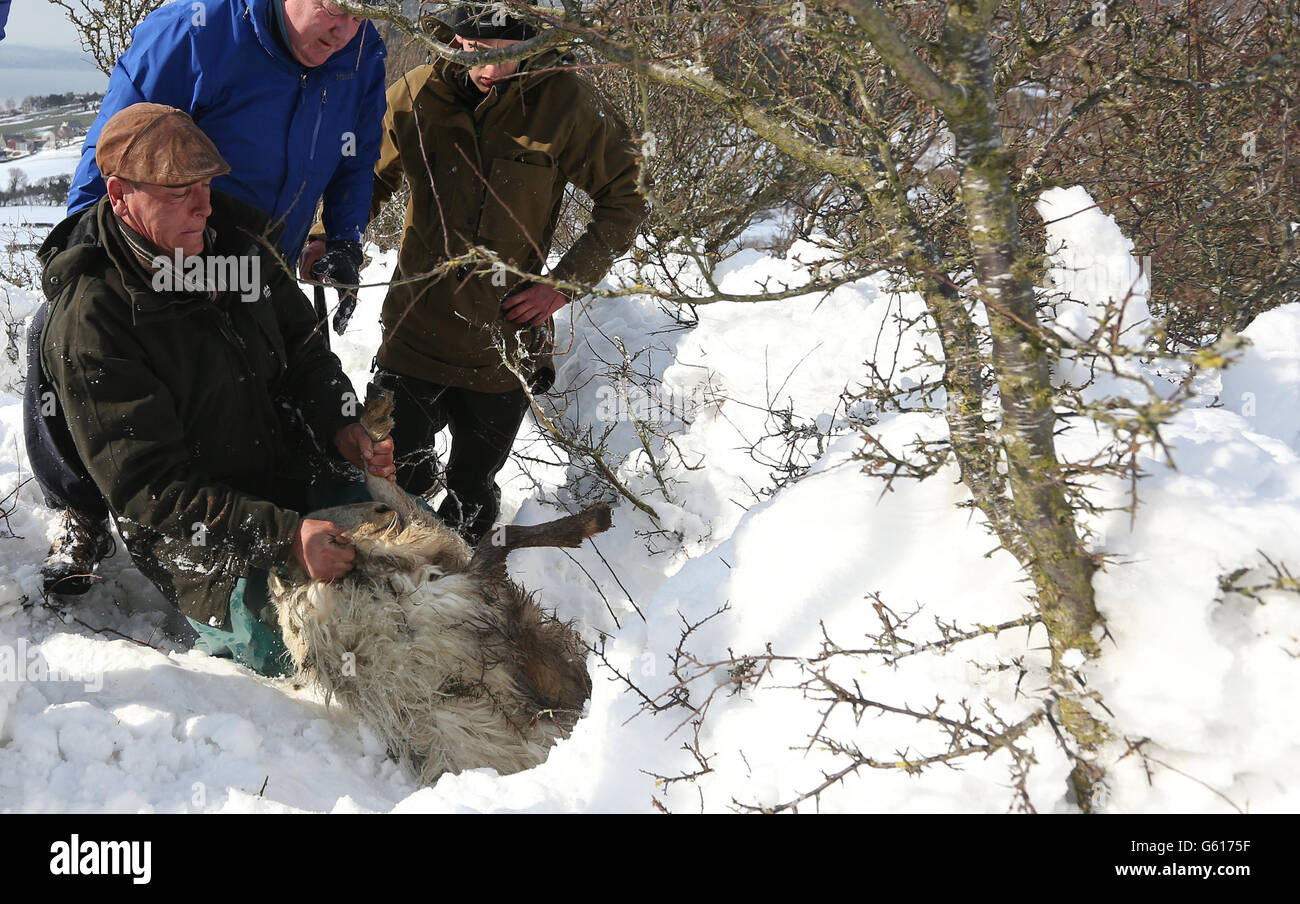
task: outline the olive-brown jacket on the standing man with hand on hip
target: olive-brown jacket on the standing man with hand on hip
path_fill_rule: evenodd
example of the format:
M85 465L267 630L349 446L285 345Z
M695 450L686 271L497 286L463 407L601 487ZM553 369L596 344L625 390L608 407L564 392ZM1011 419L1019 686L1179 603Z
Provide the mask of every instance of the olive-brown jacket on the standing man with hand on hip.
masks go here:
M519 277L480 264L406 280L474 245L541 273L569 183L593 199L592 221L550 276L595 284L632 243L646 213L637 148L585 78L555 68L564 64L555 52L526 61L473 111L445 77L464 72L454 64L420 66L389 88L370 217L403 177L411 200L384 303L382 367L478 392L519 385L500 350L525 376L550 367L550 325L520 328L502 316Z

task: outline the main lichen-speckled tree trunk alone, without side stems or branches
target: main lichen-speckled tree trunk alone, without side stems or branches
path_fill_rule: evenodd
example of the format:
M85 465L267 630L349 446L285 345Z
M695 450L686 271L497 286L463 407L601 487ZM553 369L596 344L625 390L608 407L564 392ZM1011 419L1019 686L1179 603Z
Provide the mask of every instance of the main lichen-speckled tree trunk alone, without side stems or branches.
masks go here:
M993 338L1011 512L1027 548L1022 562L1048 630L1061 722L1079 747L1071 786L1079 805L1091 809L1101 777L1091 754L1106 732L1088 711L1062 657L1071 649L1088 658L1100 653L1092 636L1097 624L1095 563L1079 540L1056 455L1052 349L1037 321L1032 255L1020 239L1013 161L1002 143L993 92L988 30L998 5L997 0L948 5L944 53L963 99L944 114L962 165L962 204Z

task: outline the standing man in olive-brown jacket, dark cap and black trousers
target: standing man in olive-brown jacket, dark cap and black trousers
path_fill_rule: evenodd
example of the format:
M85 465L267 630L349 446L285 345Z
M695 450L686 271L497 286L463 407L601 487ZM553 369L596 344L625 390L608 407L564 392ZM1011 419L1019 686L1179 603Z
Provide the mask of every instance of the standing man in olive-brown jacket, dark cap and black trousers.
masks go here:
M508 47L532 29L491 5L460 4L441 36L467 49ZM437 62L389 88L374 170L373 219L411 186L406 232L384 302L380 377L396 392L394 440L408 454L398 483L426 493L434 436L451 428L439 515L476 541L498 514L497 472L534 392L554 379L550 316L569 302L543 284L446 261L481 245L541 273L568 185L593 200L592 221L550 269L594 285L645 217L637 147L618 113L555 52L467 69ZM421 278L439 265L446 272ZM516 376L517 371L520 376Z

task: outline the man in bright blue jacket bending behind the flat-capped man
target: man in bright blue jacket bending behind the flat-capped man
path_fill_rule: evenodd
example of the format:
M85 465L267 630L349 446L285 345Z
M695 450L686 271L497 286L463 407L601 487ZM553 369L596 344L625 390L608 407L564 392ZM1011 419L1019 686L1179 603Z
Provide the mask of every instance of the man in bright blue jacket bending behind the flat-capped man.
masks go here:
M168 4L136 26L113 69L68 213L105 194L95 150L108 120L131 104L166 104L188 113L230 164L212 187L278 224L266 238L287 267L324 200L326 252L315 272L356 284L386 108L384 57L374 26L328 0ZM44 319L42 307L30 328L36 336ZM35 355L25 394L27 453L46 502L62 510L62 532L42 572L47 592L83 593L113 540L104 501L70 453L48 390Z

